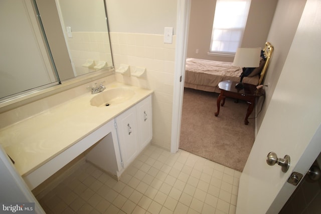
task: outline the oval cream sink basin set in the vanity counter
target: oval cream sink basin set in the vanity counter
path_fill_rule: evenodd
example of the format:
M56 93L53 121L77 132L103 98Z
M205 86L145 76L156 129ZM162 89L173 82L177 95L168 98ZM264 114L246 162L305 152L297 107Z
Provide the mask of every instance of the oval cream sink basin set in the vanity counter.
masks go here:
M90 100L92 106L109 106L122 103L134 96L135 92L129 88L114 88L100 92Z

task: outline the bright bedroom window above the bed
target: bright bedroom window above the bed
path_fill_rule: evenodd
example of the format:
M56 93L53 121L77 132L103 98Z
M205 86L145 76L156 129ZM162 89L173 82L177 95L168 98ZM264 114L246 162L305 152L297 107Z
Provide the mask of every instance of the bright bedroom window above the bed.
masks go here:
M211 53L235 54L240 47L251 0L217 0Z

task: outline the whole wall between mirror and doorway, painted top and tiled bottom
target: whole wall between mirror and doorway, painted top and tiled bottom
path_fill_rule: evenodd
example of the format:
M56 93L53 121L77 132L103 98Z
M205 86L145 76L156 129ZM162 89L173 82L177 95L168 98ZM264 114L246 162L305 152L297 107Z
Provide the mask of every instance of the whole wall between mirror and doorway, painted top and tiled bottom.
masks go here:
M164 44L164 28L176 31L177 1L173 0L106 0L110 43L114 66L146 68L145 78L116 74L129 85L154 90L152 99L152 143L171 147L172 106L175 71L175 45Z

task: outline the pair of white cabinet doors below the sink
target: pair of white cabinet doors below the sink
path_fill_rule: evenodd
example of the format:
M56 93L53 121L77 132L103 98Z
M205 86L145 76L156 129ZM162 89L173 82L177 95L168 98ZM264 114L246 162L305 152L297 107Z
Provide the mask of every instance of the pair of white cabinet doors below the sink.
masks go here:
M117 133L124 168L150 142L152 137L151 96L116 117Z

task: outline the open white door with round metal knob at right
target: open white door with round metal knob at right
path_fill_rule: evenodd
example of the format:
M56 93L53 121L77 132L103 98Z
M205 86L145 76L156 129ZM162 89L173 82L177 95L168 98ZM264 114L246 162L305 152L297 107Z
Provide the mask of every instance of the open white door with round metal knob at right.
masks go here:
M321 151L321 29L316 27L321 25L319 11L321 1L307 0L240 178L237 214L278 213L295 189L286 182L291 172L304 175ZM281 158L290 156L286 173L278 165L267 165L270 151Z

